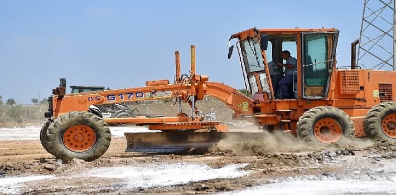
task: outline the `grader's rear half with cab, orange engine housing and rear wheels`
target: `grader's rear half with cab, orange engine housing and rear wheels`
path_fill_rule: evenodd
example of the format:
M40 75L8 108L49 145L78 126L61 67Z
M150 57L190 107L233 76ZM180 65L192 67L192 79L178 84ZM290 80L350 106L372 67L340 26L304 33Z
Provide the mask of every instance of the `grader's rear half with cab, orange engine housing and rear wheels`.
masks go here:
M394 142L396 72L363 70L354 62L355 53L351 54L350 70L337 67L338 36L335 28L251 28L230 37L238 39L254 121L316 144L364 136ZM283 43L290 41L295 42L297 71L293 78L297 79L288 87L295 97L276 99L268 58L279 62ZM232 51L229 46L228 59Z

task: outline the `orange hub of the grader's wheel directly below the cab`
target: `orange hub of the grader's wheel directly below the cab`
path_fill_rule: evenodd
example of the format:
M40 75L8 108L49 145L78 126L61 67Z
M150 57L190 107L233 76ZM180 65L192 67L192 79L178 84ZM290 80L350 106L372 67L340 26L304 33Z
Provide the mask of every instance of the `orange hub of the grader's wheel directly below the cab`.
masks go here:
M343 135L343 129L335 119L324 118L316 122L314 135L323 143L336 142Z

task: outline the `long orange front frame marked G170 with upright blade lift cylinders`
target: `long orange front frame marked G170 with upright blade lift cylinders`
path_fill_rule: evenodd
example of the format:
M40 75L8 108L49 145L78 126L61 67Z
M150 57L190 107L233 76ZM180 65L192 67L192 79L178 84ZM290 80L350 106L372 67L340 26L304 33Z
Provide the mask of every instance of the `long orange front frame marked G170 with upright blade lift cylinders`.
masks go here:
M65 94L65 86L53 89L53 95L49 98L49 111L52 119L72 111L87 111L91 105L114 104L122 102L136 102L143 100L158 100L176 98L180 102L188 102L194 110L190 117L179 113L176 117L132 117L132 118L105 118L106 123L133 123L149 125L149 129L176 130L176 129L200 129L202 126L216 126L220 122L203 121L203 117L195 116L198 108L197 100L203 100L205 95L218 98L234 111L233 118L240 116L252 116L253 100L243 95L238 90L223 83L208 82L206 75L195 74L195 45L191 45L190 76L180 73L179 53L175 52L176 75L173 84L169 80L147 81L145 87L133 87L125 89L112 89L108 91L93 91L78 94ZM186 76L183 78L183 76ZM156 96L158 92L170 92L164 96ZM192 100L190 100L190 98ZM181 110L180 110L181 111ZM48 116L47 116L48 117ZM187 124L188 123L188 124ZM152 126L150 128L150 126ZM187 128L188 127L188 128Z

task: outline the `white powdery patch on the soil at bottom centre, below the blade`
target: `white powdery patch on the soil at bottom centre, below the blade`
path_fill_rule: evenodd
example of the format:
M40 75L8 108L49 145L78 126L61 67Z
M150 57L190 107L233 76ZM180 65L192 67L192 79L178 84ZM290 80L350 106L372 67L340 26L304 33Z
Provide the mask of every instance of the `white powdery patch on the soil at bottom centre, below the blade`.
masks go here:
M217 178L236 178L250 172L239 170L247 164L230 164L223 168L213 169L207 165L191 163L172 163L145 165L144 167L111 167L97 168L87 172L86 176L101 178L118 178L117 183L127 189L138 187L164 187L176 184L187 184L201 180Z

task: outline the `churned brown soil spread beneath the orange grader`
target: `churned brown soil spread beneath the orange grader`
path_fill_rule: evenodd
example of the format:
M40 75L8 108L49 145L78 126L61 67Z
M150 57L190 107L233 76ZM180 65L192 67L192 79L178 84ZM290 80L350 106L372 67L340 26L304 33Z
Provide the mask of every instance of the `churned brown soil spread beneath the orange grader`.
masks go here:
M388 162L396 163L396 145L388 142L362 141L344 146L333 144L324 148L305 146L293 137L286 136L282 139L281 136L284 135L274 135L263 141L241 141L232 144L222 142L209 153L202 155L127 153L124 152L125 138L112 138L110 148L103 157L92 162L74 159L68 163L54 159L42 148L39 140L1 141L0 190L2 178L46 175L53 176L53 178L28 182L19 187L17 193L213 194L271 184L274 180L284 181L285 178L305 177L314 181L323 178L348 177L356 170L364 172L369 168L380 168ZM190 165L197 167L186 170ZM198 174L194 173L194 170L202 168L198 165L207 166L202 171L208 170L208 174L215 174L217 170L225 169L230 165L243 166L227 169L228 171L221 174L230 174L230 176L224 178L171 182L171 180L177 180L177 178L172 178L172 172L179 170ZM142 182L142 185L128 188L128 185L124 184L126 180L116 176L116 174L125 174L123 171L128 170L119 170L120 167L134 167L136 172L131 172L131 176L142 172L142 176L135 178L135 183L128 183L133 186ZM99 168L109 168L107 171L110 171L110 174L107 173L108 176L103 177L85 175ZM112 175L111 171L118 172ZM156 171L164 171L162 174L169 174L169 176L165 179L161 179L160 176L158 178L150 176ZM232 172L239 175L232 176ZM101 170L97 174L102 173L106 174L106 171ZM164 186L155 186L156 180L163 181ZM151 184L153 186L150 186ZM11 189L12 186L8 188Z

